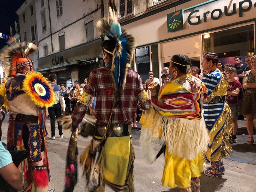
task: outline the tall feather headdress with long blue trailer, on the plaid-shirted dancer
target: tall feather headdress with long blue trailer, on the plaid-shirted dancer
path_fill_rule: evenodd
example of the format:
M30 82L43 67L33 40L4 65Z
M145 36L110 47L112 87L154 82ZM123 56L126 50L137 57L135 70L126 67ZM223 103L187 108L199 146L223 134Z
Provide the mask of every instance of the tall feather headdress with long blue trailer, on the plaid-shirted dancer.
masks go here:
M121 29L114 0L108 0L108 9L109 17L99 20L96 26L109 40L114 41L116 44L113 52L108 50L107 52L113 55L111 70L118 90L124 88L127 69L131 67L135 50L135 38L124 29Z

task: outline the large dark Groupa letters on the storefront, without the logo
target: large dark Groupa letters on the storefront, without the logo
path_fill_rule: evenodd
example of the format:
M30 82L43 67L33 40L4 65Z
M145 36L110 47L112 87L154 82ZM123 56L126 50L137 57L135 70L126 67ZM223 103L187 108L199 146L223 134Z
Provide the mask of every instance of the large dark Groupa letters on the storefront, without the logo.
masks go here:
M246 6L246 8L244 8L245 5L248 5L248 4L249 4L249 6ZM235 15L235 14L237 13L237 11L236 11L236 3L234 3L232 6L233 6L233 9L232 9L232 11L229 11L229 12L228 12L228 6L225 6L225 7L224 7L224 12L222 12L222 10L219 9L219 8L212 10L212 12L211 12L211 19L212 19L212 20L218 20L218 19L220 19L220 17L221 17L223 14L224 14L225 16L232 16L232 15ZM239 5L238 5L239 17L243 17L243 12L250 11L250 9L252 9L253 7L256 7L256 3L253 4L251 0L240 1L240 2L239 2ZM190 25L198 25L198 24L200 24L200 23L202 22L201 17L204 18L204 19L203 19L204 22L207 22L207 19L208 19L207 16L210 14L210 11L204 12L203 15L198 15L198 16L196 16L196 20L197 20L197 21L196 21L196 22L195 22L195 21L192 22L192 21L191 21L191 17L192 17L195 13L197 13L197 12L199 12L199 10L194 10L194 11L192 11L192 12L188 15L188 24L190 24Z

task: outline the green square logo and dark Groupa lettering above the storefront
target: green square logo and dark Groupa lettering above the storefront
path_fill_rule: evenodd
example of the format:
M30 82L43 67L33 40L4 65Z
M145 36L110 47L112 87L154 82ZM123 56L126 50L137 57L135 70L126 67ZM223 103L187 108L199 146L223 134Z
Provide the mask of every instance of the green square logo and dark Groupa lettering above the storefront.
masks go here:
M224 6L224 12L220 8L214 9L212 11L206 11L202 14L200 14L198 9L194 10L188 15L188 24L189 25L199 25L202 22L207 22L209 19L218 20L221 18L222 15L225 15L225 16L235 15L235 14L237 14L236 7L237 7L236 3L233 3L231 12L230 11L228 12L228 5ZM256 7L256 3L252 3L251 0L240 1L238 3L239 17L243 17L243 13L250 11L253 7ZM175 15L177 12L180 12L178 14L179 17L178 17L178 15ZM192 19L193 15L197 12L199 12L199 15L196 16L196 20ZM173 31L183 29L183 22L180 22L180 25L179 25L180 27L179 26L176 27L176 25L175 25L175 27L173 28L174 25L172 25L173 22L175 23L177 21L180 21L178 19L180 17L182 18L182 13L183 13L182 10L179 10L176 12L169 13L167 15L168 32L173 32ZM170 17L170 15L171 15L171 17ZM210 18L208 17L208 15L210 15ZM183 20L181 20L181 21L183 21Z

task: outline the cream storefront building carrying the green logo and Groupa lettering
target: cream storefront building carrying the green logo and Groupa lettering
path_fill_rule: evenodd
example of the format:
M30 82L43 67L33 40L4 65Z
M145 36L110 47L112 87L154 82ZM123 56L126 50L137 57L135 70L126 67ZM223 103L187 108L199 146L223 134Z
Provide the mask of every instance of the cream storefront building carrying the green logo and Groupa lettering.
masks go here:
M200 67L215 52L224 63L255 52L256 0L116 0L122 26L137 38L134 70L161 76L174 54Z

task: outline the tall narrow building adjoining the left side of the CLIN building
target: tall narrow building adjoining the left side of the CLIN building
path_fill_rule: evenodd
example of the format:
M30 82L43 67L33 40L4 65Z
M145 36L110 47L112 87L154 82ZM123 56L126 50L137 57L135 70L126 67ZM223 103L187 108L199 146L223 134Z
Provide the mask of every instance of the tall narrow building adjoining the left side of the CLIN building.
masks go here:
M19 16L20 41L37 44L35 0L26 0L16 13ZM33 60L34 68L38 69L38 52L33 53L29 58Z

